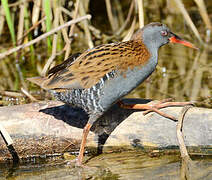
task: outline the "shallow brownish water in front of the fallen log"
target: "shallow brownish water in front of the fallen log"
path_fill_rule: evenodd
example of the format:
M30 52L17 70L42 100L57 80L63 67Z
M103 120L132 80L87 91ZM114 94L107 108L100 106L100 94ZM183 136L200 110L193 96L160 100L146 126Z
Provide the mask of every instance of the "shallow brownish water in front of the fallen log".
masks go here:
M212 179L212 159L195 159L188 164L191 179ZM84 167L67 166L63 160L0 167L0 180L25 179L180 179L184 174L176 155L150 157L139 151L102 154Z

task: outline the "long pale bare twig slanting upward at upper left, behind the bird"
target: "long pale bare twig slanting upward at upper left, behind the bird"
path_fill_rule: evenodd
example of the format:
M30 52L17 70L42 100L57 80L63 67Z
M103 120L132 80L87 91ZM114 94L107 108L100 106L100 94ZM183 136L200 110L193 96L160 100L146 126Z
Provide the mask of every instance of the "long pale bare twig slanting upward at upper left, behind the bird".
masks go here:
M63 24L63 25L61 25L61 26L59 26L59 27L57 27L55 29L52 29L51 31L49 31L49 32L37 37L36 39L33 39L32 41L30 41L30 42L28 42L26 44L22 44L20 46L17 46L15 48L12 48L12 49L4 52L4 53L1 53L0 54L0 59L4 58L4 57L6 57L6 56L8 56L8 55L20 50L20 49L23 49L25 47L31 46L32 44L37 43L38 41L40 41L40 40L42 40L42 39L44 39L44 38L56 33L57 31L59 31L59 30L61 30L63 28L66 28L66 27L70 26L71 24L78 23L78 22L80 22L82 20L90 19L90 18L91 18L91 15L86 15L86 16L82 16L80 18L77 18L75 20L68 21L67 23L65 23L65 24Z

